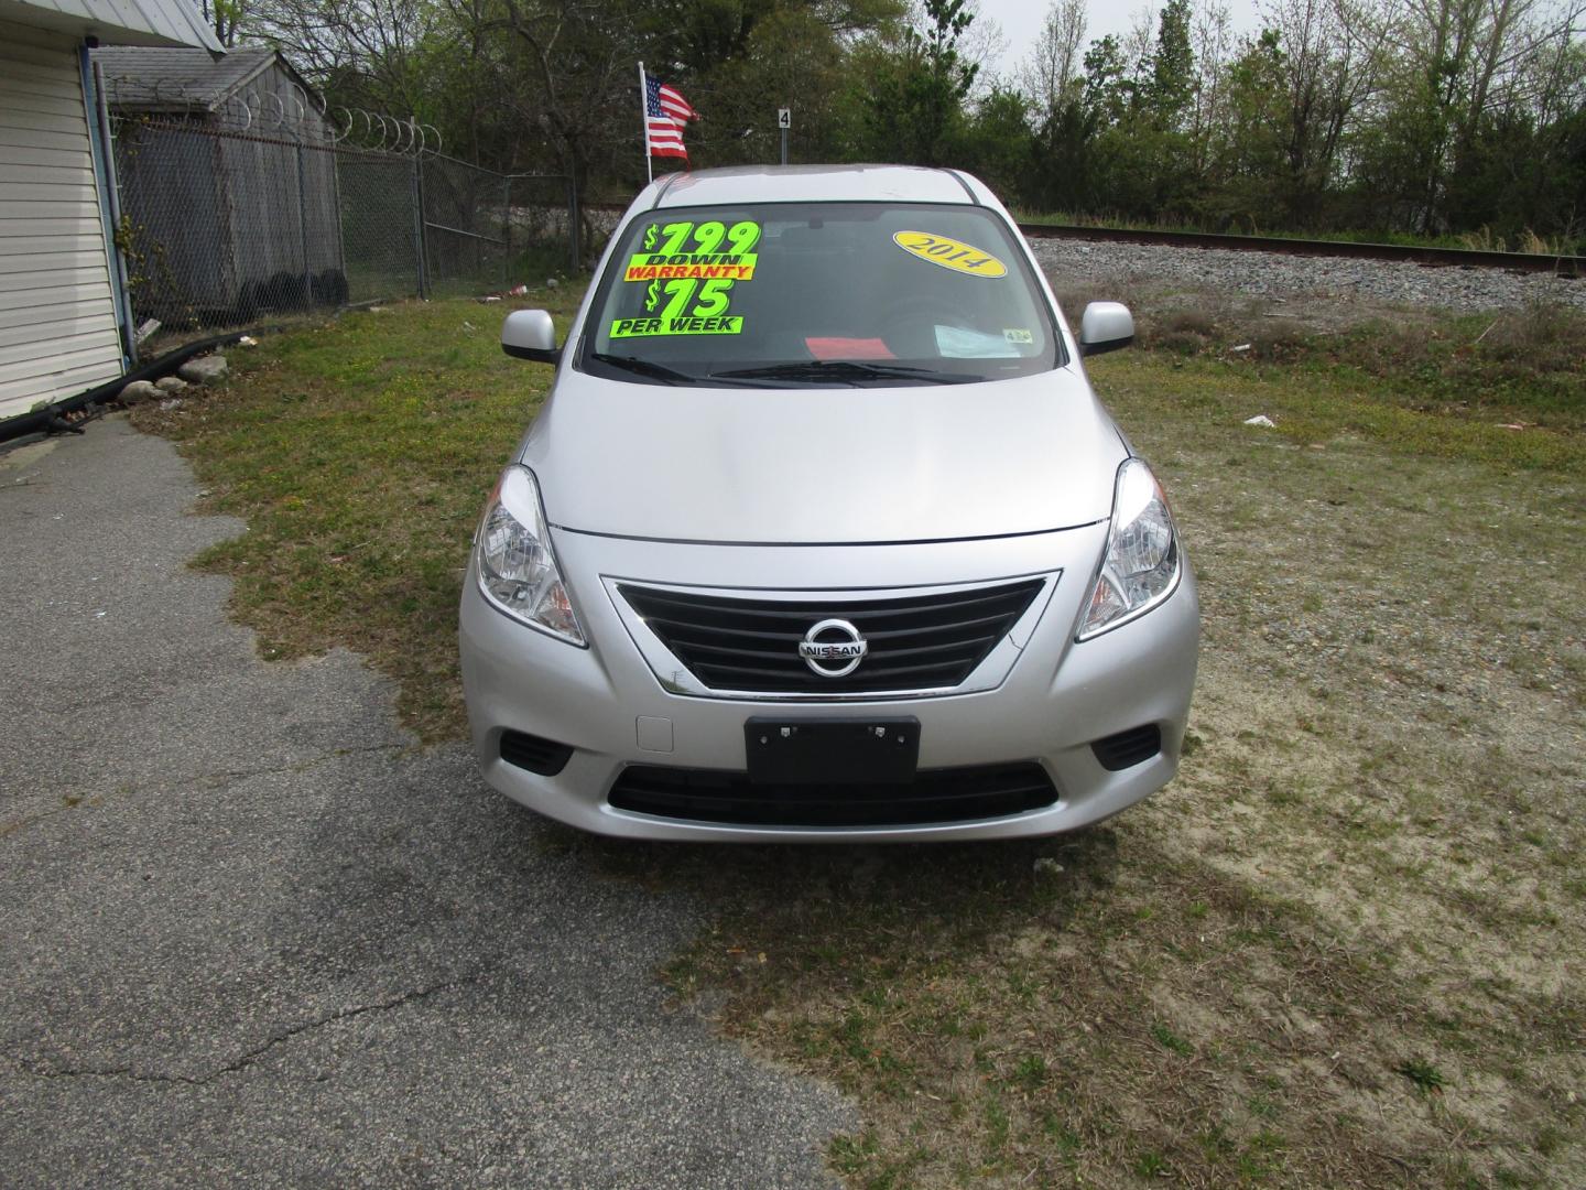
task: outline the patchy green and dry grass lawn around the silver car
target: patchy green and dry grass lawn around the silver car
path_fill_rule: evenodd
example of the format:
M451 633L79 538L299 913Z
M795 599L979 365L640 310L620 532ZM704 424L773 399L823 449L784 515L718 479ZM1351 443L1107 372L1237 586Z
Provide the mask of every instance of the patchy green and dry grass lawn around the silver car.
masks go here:
M463 730L458 574L549 378L503 313L349 314L138 411L247 520L198 565L265 654L357 649L428 741ZM855 1096L853 1185L1586 1185L1586 330L1537 317L1239 357L1147 327L1094 363L1205 630L1182 776L1105 827L546 846L717 906L663 977Z

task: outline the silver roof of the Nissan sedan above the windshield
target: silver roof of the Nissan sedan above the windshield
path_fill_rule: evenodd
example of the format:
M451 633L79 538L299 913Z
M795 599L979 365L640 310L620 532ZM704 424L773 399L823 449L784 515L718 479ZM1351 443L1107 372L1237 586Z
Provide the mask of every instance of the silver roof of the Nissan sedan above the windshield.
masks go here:
M741 165L657 178L638 206L726 203L906 202L990 205L977 178L917 165ZM988 203L990 200L990 203Z

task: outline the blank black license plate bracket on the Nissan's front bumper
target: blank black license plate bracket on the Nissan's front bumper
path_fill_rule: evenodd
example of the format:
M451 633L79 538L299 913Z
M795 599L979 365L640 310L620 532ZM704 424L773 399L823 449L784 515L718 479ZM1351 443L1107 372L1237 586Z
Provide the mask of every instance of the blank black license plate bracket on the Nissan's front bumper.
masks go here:
M744 724L757 785L906 785L920 765L920 720L777 719Z

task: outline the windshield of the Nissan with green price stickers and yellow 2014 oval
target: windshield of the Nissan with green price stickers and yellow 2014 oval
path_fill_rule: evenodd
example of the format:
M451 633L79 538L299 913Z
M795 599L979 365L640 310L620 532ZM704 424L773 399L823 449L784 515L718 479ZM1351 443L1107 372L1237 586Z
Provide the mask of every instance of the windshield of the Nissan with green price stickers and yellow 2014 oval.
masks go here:
M967 205L650 211L590 309L579 367L634 384L963 384L1063 362L1025 252Z

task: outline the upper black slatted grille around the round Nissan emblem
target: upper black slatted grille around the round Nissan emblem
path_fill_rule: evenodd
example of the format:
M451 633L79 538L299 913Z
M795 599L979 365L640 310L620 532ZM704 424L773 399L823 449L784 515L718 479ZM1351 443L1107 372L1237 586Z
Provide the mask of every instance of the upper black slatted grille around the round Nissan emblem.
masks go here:
M619 584L628 606L706 687L801 695L960 685L1040 587L1042 579L1028 579L890 600L753 600ZM804 633L829 619L852 624L869 647L844 678L817 674L799 657Z

